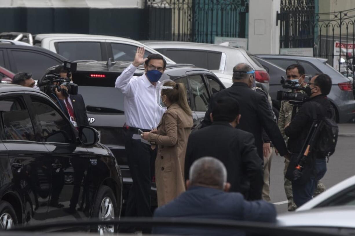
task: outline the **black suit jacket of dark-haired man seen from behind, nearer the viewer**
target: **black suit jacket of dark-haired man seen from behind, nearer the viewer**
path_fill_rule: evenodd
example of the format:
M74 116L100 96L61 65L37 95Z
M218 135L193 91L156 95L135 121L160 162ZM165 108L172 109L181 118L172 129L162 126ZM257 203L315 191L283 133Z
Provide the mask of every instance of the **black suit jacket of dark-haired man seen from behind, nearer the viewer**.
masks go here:
M263 161L251 133L235 129L228 122L213 122L191 133L186 149L185 179L189 179L192 163L201 157L222 161L227 169L230 191L241 192L248 199L261 199Z

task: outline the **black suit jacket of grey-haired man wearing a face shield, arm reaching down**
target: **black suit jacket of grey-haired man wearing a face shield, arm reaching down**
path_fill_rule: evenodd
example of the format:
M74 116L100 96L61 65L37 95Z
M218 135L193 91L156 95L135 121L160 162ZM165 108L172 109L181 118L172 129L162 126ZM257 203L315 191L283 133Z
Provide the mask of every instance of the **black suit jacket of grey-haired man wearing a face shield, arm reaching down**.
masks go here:
M270 112L270 105L267 103L263 95L250 89L246 83L236 82L231 87L213 94L204 120L202 121L202 127L211 125L209 114L212 111L214 100L221 97L231 97L239 102L241 118L237 128L254 135L255 145L261 159L263 159L263 128L280 155L284 156L288 153L279 127L274 120L274 116Z

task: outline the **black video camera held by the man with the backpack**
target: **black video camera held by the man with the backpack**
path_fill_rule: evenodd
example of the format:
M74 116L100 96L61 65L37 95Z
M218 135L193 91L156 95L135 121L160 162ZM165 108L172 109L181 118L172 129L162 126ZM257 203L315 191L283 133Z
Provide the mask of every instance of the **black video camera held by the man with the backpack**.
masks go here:
M305 90L306 88L301 88L300 84L296 81L286 80L285 77L281 76L281 81L283 88L294 90ZM295 92L285 92L283 90L277 91L277 100L290 101L293 104L304 103L309 99L307 94L295 93Z

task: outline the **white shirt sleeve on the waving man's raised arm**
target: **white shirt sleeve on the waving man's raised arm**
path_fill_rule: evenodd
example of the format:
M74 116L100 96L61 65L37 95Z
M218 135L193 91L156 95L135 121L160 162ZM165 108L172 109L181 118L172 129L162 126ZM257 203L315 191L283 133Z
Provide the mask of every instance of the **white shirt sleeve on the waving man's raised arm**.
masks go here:
M126 96L134 96L135 95L135 90L136 86L131 83L131 78L134 75L134 72L137 70L137 67L133 66L131 64L129 67L127 67L119 77L117 77L116 82L115 82L115 88L118 88L121 90L123 94Z

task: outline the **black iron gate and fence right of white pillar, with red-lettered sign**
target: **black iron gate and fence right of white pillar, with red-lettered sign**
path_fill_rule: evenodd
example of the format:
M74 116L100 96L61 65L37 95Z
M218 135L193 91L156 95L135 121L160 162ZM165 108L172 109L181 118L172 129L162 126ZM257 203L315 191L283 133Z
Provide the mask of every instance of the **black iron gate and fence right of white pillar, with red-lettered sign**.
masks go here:
M280 48L313 48L315 57L354 77L355 9L315 13L314 0L282 0Z

